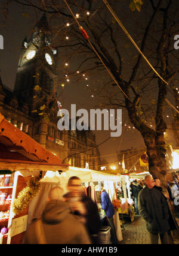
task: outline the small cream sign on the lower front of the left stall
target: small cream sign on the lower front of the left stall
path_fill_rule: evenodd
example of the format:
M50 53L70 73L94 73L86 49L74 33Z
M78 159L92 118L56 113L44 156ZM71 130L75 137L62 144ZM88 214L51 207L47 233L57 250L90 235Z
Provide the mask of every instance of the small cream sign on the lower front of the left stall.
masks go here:
M12 220L11 225L11 237L16 236L17 234L20 234L27 229L27 216L24 215L19 218L15 218Z

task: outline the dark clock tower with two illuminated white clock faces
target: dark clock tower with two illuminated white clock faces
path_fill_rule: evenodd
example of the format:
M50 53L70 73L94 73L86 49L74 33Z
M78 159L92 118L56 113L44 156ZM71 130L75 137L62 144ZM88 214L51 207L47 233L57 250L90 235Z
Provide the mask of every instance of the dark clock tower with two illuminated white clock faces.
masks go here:
M29 108L29 115L45 103L54 101L57 85L57 49L51 46L51 30L44 14L33 28L28 41L24 38L14 86L19 104Z

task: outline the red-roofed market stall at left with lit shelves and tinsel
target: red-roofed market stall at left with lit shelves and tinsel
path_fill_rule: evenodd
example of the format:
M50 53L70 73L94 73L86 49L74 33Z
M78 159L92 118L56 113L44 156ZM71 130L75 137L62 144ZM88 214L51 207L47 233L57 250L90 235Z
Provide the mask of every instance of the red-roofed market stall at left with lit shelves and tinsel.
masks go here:
M38 192L39 179L48 170L66 171L67 165L0 113L0 243L21 243L27 227L27 201L32 199L27 195Z

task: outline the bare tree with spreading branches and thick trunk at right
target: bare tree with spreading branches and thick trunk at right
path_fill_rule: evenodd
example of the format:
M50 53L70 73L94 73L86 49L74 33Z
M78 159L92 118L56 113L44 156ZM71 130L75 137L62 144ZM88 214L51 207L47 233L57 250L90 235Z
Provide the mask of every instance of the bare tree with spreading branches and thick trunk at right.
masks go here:
M141 11L138 8L140 12L132 12L127 1L108 1L165 82L153 73L141 54L134 49L104 1L67 1L78 22L70 13L66 1L14 2L47 13L54 34L51 44L61 53L59 61L73 62L73 70L68 70L67 76L75 76L80 70L81 73L85 71L98 77L99 86L94 86L96 94L100 96L100 104L127 110L131 123L140 131L146 144L149 171L164 184L165 100L169 89L165 82L171 83L179 68L178 52L174 49L174 35L177 34L179 22L177 1L144 1ZM142 2L139 4L141 7ZM70 40L64 40L66 37ZM101 77L105 77L103 81Z

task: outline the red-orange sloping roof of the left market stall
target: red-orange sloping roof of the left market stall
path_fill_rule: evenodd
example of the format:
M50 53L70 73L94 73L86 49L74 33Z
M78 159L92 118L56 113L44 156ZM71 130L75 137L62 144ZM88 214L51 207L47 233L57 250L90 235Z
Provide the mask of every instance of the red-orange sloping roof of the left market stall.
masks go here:
M5 162L65 166L60 158L14 127L0 113L0 170Z

